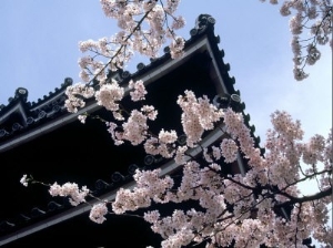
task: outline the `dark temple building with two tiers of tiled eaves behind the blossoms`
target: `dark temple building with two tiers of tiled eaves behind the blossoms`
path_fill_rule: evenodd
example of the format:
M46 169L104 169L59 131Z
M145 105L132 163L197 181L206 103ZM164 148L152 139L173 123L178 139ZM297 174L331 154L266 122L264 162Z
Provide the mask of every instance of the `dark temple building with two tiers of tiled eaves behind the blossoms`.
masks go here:
M214 22L208 14L198 18L182 59L172 60L167 48L150 64L138 64L135 73L110 73L121 85L131 79L144 81L147 102L159 110L153 130L180 131L181 110L175 101L184 90L192 90L198 96L205 94L220 107L225 104L244 111L238 97L240 92L233 86L235 80L229 75L230 65L223 61L224 51L219 49ZM94 101L77 114L68 113L64 91L71 83L70 78L64 79L59 89L38 102L29 102L28 90L20 87L7 105L0 106L0 246L159 247L160 236L140 218L108 216L108 221L98 225L88 218L90 205L72 207L68 199L51 197L48 187L20 184L23 174L50 184L75 182L101 198L112 199L117 188L133 186L137 167L161 167L164 175L176 172L173 161L149 156L140 145L115 146L104 123L88 120L81 124L78 115L84 112L110 117ZM124 104L133 103L127 99ZM249 122L249 115L245 116ZM221 135L219 130L208 133L202 145L221 140ZM241 159L230 166L231 172L243 169Z

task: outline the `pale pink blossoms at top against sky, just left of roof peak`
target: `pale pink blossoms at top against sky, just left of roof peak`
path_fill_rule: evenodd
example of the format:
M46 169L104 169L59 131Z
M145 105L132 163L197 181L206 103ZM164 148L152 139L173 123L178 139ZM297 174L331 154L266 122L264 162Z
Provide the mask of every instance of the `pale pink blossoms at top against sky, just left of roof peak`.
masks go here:
M92 79L103 82L108 69L122 69L134 52L150 58L158 56L167 40L171 40L171 56L182 55L184 40L175 33L185 24L184 19L175 14L180 0L100 2L105 17L115 19L120 31L110 39L79 43L80 50L89 53L79 60L83 82Z

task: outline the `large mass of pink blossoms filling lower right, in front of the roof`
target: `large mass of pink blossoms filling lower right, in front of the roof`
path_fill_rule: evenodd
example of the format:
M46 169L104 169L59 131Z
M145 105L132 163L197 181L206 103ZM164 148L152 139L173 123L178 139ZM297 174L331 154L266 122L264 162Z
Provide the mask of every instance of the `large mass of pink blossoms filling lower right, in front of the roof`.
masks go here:
M104 85L107 89L108 84ZM119 89L117 84L113 86ZM129 89L132 90L132 101L145 99L143 82L130 82ZM109 97L105 102L114 104L112 101L117 99L118 104L123 94L115 93L120 97L105 94ZM181 121L186 135L186 144L182 146L176 145L175 131L162 128L158 135L149 132L147 121L157 117L153 106L144 105L140 111L132 110L127 121L117 118L123 121L121 125L107 123L115 144L121 145L124 141L133 145L143 143L148 154L174 158L179 165L183 165L179 186L174 185L170 176L160 177L160 169L137 170L133 176L135 187L118 190L112 203L113 213L134 211L150 207L152 203L198 202L201 210L175 209L172 216L161 216L158 210L145 213L143 218L152 224L152 230L164 238L162 247L181 247L203 240L212 247L229 246L232 242L235 247L262 244L278 246L282 244L283 237L289 237L283 240L283 245L287 247L301 245L311 235L329 242L325 237L331 229L326 225L327 210L323 209L327 209L329 190L332 188L332 134L326 140L315 135L309 143L301 143L303 131L300 122L293 122L287 113L278 111L271 116L273 128L268 132L266 153L262 156L241 113L231 108L218 110L206 96L196 97L191 91L180 95L178 104L183 111ZM112 105L110 111L118 112L119 105ZM222 138L220 146L202 148L204 163L195 162L186 152L200 144L204 131L215 128L221 121L226 136ZM239 155L250 166L245 175L224 175L220 158L223 157L225 165L230 166ZM311 165L303 173L300 168L302 159ZM317 163L323 163L324 167L314 166ZM311 199L302 202L296 186L299 182L312 177L320 178L319 188L325 193L322 197L313 198L316 200L315 205ZM258 188L262 189L259 192ZM275 213L280 208L278 206L283 208L283 204L293 206L296 203L301 203L300 208L294 208L295 211L289 216ZM305 209L306 213L303 214ZM90 218L103 223L107 214L105 203L101 203L92 208ZM307 218L309 215L317 216L316 220ZM309 226L312 228L307 228Z

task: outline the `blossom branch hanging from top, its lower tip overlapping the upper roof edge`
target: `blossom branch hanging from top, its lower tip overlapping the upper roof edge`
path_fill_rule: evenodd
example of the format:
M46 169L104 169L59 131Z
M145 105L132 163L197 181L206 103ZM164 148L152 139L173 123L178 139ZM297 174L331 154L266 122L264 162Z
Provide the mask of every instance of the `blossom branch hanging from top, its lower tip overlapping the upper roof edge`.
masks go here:
M100 105L112 111L115 118L122 118L121 113L115 110L118 108L115 102L123 97L124 89L120 87L114 80L112 82L107 81L108 70L123 69L134 52L157 58L168 39L171 40L169 45L171 56L173 59L182 56L184 40L178 37L175 31L183 28L185 21L181 16L175 16L179 3L180 0L101 0L104 14L118 20L118 27L121 31L109 40L102 38L99 41L88 40L79 43L80 50L83 53L89 52L89 54L79 60L80 76L83 83L67 89L65 106L68 111L78 112L85 105L87 99L94 96ZM95 81L100 84L99 90L94 85ZM133 85L129 84L129 86ZM113 90L112 93L111 90ZM138 90L135 89L135 91ZM101 94L103 93L109 94L109 99L105 101L110 100L111 105L107 104L105 101L101 102L103 100ZM134 101L139 101L139 99ZM84 116L79 118L82 122L85 120Z

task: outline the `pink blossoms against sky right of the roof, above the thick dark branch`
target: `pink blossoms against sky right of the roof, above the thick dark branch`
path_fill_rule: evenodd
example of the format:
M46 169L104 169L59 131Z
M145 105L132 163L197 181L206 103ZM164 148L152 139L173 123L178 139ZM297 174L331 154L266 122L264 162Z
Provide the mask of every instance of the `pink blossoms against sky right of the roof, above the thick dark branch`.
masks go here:
M289 114L275 112L272 123L274 128L268 132L264 161L270 183L281 188L287 187L289 194L296 196L297 192L289 185L320 175L321 180L326 183L320 184L319 187L327 188L330 180L332 183L332 153L327 154L327 151L332 152L332 134L327 140L314 135L309 143L301 143L303 131L300 122L292 122ZM303 168L300 167L300 162L304 163ZM332 187L332 184L329 187Z

